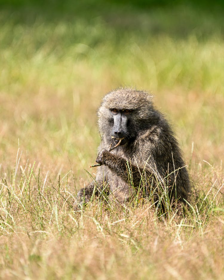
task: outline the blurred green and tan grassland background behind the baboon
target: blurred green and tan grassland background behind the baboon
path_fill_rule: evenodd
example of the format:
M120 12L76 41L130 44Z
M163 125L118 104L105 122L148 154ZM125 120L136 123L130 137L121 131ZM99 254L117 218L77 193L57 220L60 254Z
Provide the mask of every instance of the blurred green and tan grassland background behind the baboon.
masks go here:
M155 95L187 164L220 164L223 1L0 3L3 169L14 166L19 139L24 163L65 172L71 165L86 178L100 100L125 85Z

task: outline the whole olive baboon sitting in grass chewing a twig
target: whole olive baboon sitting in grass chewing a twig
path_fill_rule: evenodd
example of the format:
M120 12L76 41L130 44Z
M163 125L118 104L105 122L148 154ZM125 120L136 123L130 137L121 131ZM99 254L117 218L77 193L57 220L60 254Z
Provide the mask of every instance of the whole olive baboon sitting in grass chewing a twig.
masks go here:
M102 143L96 162L100 166L95 181L78 192L78 204L104 188L124 203L145 179L146 195L157 188L157 195L167 190L170 201L188 200L191 185L177 140L148 92L133 88L109 92L99 107L98 124ZM111 142L119 146L108 151Z

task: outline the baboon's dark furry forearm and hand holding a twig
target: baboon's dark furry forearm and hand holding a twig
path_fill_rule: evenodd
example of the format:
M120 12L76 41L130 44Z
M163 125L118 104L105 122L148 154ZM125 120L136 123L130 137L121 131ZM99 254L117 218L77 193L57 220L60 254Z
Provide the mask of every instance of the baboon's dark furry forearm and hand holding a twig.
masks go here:
M105 149L103 149L102 152L99 153L96 162L101 165L105 164L106 166L108 166L109 169L116 172L116 174L127 183L132 180L134 186L139 185L144 172L146 172L148 178L154 178L154 174L149 170L136 166L128 162L124 158L106 151Z

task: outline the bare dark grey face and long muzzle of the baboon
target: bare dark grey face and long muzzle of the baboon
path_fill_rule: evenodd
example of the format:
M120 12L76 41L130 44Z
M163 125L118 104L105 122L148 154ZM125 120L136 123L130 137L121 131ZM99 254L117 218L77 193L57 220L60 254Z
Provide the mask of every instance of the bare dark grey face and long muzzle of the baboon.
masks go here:
M111 108L111 138L117 144L124 145L133 136L131 135L130 120L132 110Z

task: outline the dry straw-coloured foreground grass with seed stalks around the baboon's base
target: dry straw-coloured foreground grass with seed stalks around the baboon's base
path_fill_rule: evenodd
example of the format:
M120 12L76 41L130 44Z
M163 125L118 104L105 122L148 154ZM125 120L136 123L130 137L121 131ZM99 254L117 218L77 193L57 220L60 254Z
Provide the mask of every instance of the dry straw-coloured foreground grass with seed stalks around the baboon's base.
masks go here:
M214 184L196 190L185 216L169 207L158 216L150 200L96 199L74 211L72 171L50 180L35 163L20 165L19 152L0 183L1 277L222 279L223 177L210 172Z

